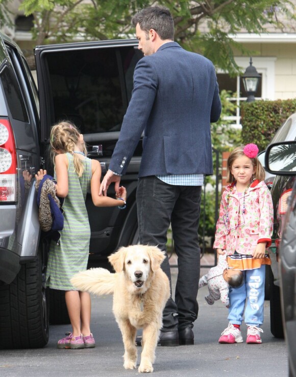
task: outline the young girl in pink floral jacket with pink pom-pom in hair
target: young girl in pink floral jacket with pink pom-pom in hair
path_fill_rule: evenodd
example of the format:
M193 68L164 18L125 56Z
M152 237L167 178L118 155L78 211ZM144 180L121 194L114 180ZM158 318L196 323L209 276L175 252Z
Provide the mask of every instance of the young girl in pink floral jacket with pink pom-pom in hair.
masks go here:
M227 162L230 185L222 195L213 247L218 255L227 255L230 268L243 271L244 284L230 287L229 325L219 343L243 342L243 314L246 343L262 342L265 265L271 263L266 248L271 244L274 210L257 154L257 145L248 144L235 148Z

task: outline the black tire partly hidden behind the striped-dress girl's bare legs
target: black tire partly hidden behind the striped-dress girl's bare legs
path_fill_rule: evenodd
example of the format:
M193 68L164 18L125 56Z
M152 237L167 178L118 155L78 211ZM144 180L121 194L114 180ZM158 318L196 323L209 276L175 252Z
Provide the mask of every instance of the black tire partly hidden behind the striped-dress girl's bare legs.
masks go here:
M69 323L65 291L50 289L50 324L67 325Z

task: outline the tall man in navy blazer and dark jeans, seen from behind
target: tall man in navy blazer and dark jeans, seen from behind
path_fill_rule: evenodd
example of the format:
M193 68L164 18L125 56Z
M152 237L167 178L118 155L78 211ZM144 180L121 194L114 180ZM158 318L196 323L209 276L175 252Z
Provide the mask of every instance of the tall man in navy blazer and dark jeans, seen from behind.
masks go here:
M175 301L165 306L159 345L194 344L201 191L204 176L213 173L210 123L221 113L218 84L210 60L174 42L167 8L145 8L132 24L144 57L135 68L132 98L100 193L106 195L112 182L118 192L144 132L136 197L139 241L166 251L171 224L178 256ZM170 279L167 257L161 267Z

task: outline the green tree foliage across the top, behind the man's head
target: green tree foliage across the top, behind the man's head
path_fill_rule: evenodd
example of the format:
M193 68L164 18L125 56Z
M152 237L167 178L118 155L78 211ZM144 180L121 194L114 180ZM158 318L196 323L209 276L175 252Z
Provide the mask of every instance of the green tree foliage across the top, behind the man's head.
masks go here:
M278 19L283 13L286 19L296 18L288 0L23 0L20 9L34 15L34 38L39 45L77 37L96 40L135 36L131 16L156 4L170 9L177 42L233 75L240 72L234 49L244 55L254 56L255 52L233 41L231 35L240 30L261 33L267 24L280 27Z

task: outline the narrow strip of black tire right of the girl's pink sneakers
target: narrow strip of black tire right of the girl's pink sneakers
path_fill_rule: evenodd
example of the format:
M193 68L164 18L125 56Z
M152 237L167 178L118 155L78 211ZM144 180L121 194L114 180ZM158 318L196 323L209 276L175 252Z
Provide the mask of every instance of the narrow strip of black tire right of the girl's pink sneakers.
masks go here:
M272 269L269 274L269 296L270 296L270 331L276 338L284 338L280 287L274 284Z

